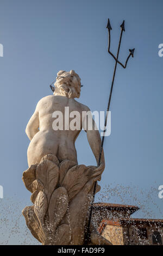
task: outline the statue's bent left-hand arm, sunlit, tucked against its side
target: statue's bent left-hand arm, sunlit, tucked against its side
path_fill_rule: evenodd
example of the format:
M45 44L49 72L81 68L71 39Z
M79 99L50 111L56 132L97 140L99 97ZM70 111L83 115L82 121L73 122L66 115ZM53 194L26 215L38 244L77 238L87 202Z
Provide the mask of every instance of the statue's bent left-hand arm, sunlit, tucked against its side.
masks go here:
M36 110L32 117L30 118L27 127L26 127L26 134L30 141L34 137L34 135L39 132L39 111L36 107Z

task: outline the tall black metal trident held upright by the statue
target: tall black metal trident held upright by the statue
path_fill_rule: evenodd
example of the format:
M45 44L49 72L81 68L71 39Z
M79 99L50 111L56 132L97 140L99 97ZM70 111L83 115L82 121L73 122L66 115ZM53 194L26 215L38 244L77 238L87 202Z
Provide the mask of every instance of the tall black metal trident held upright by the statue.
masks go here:
M128 60L130 58L130 56L134 57L134 49L129 49L129 56L126 59L126 63L125 65L123 65L121 62L119 62L118 60L118 56L119 56L119 52L120 52L120 46L121 46L121 39L122 39L122 34L123 31L125 31L124 29L124 21L121 24L121 35L120 35L120 41L118 44L118 51L117 51L117 56L115 57L114 54L112 54L112 52L110 52L110 31L112 30L111 25L110 25L110 21L108 19L108 24L106 26L106 28L108 28L108 32L109 32L109 40L108 40L108 52L109 54L115 59L115 67L114 67L114 74L112 77L112 83L111 83L111 88L110 88L110 95L109 95L109 101L108 101L108 107L106 110L106 117L105 117L105 124L104 124L104 131L103 131L103 137L102 137L102 142L101 142L101 150L100 150L100 154L99 154L99 160L98 160L98 166L100 166L101 163L101 154L102 154L102 150L103 150L103 144L104 144L104 138L105 138L105 131L106 131L106 125L107 125L107 119L108 119L108 113L109 113L109 108L110 108L110 101L111 101L111 95L112 95L112 88L114 85L114 79L115 79L115 74L116 74L116 69L117 69L117 63L120 64L121 66L123 66L124 69L126 69ZM97 186L97 181L95 182L95 186L94 186L94 190L93 190L93 199L92 199L92 203L91 203L91 207L90 207L90 216L89 216L89 221L87 224L87 237L86 237L86 245L89 243L90 240L90 223L91 223L91 217L92 217L92 210L93 210L93 202L95 199L95 192L96 192L96 186Z

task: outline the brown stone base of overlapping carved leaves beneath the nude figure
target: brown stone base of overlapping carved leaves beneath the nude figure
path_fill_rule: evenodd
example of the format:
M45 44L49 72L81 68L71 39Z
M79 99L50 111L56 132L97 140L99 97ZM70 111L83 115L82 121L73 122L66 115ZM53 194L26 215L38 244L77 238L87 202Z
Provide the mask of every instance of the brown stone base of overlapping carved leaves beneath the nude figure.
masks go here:
M23 172L22 179L32 192L34 205L24 208L22 214L42 245L84 245L95 169L70 160L59 162L56 156L48 154ZM92 224L91 244L110 244Z

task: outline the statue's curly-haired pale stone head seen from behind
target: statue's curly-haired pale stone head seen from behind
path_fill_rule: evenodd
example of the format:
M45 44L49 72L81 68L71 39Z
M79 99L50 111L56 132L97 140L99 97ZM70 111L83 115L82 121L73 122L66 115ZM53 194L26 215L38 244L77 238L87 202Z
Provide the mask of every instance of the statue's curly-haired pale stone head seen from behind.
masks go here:
M54 83L54 95L59 93L69 98L80 97L80 77L74 70L71 70L70 72L60 70L57 73L56 80L57 81Z

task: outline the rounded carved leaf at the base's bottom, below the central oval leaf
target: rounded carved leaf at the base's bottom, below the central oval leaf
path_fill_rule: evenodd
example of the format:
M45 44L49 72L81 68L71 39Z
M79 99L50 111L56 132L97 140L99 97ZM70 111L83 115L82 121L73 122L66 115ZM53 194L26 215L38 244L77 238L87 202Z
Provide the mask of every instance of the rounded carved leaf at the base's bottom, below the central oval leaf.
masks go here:
M71 241L71 230L69 225L62 224L55 233L54 245L68 245Z

